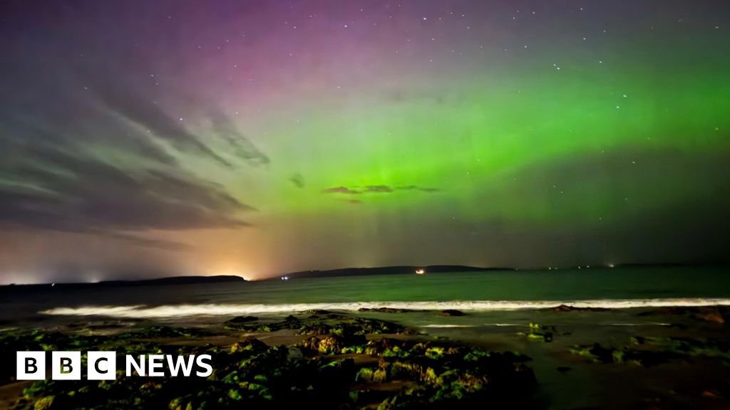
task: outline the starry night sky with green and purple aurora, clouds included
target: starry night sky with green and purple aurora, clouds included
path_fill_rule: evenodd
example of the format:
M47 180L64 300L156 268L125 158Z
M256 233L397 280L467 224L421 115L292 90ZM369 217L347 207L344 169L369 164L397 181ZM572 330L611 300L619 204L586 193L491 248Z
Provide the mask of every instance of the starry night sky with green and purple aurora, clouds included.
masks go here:
M728 1L3 1L0 282L727 261Z

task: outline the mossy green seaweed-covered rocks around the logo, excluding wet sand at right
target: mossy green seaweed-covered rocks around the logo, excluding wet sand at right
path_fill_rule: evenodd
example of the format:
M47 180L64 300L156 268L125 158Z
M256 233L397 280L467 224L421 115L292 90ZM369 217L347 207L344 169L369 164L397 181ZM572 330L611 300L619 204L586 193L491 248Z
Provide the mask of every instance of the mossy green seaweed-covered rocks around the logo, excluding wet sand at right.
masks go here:
M213 358L207 378L127 377L118 368L112 381L14 382L15 367L4 366L1 382L18 386L11 405L18 410L521 407L534 405L536 384L529 357L519 353L433 340L393 322L326 311L273 322L236 317L221 330L15 330L2 333L0 346L4 357L19 350L104 349L118 352L118 363L140 353ZM85 366L85 353L82 360Z

